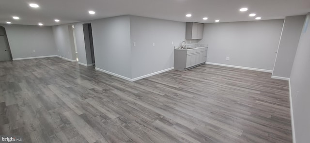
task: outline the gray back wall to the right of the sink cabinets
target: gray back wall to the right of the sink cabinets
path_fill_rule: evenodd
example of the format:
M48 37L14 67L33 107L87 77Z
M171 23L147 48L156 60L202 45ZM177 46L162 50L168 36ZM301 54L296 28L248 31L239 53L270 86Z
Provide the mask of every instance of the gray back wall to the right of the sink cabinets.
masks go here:
M205 24L199 43L209 44L207 62L273 70L283 21Z

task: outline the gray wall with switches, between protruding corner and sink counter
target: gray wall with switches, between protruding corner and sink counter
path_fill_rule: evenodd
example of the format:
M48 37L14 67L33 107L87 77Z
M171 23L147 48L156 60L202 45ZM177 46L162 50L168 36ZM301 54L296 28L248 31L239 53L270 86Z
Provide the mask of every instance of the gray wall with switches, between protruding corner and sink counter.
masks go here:
M184 22L130 16L132 79L173 67L174 46L185 40L185 30Z

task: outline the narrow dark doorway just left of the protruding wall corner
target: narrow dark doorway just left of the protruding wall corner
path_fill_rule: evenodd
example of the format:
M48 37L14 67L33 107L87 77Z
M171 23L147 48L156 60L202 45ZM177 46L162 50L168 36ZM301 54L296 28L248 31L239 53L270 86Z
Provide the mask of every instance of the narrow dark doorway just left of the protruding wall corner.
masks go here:
M92 24L85 23L83 24L84 31L84 41L85 41L85 51L86 51L86 60L87 64L91 64L95 66L95 56L93 50L93 32L92 32Z

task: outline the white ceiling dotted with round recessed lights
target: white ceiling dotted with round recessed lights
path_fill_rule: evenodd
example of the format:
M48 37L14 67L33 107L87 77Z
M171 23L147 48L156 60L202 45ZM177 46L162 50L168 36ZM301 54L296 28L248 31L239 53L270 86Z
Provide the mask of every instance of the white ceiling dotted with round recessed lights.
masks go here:
M31 8L29 3L39 4ZM247 12L239 9L247 7ZM96 12L88 14L89 10ZM0 23L60 25L112 16L134 15L182 22L212 23L261 20L310 12L310 0L0 0ZM186 17L192 14L192 17ZM19 16L14 20L12 16ZM208 20L202 20L208 17ZM54 19L60 19L56 23Z

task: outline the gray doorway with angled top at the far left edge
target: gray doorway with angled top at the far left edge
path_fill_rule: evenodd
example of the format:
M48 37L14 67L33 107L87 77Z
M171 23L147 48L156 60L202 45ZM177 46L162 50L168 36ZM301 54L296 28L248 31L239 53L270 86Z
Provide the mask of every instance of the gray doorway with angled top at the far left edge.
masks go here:
M0 26L0 61L12 60L12 54L5 28Z

